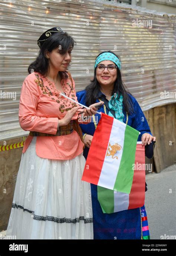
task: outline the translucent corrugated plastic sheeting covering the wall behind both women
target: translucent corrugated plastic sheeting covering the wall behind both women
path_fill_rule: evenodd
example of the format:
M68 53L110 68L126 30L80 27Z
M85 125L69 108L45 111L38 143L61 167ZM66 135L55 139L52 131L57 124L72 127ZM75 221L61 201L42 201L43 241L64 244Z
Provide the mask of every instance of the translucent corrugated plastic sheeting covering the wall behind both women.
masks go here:
M38 54L37 39L53 26L61 26L77 43L69 68L77 91L93 77L98 53L112 50L120 55L123 81L143 110L176 101L160 98L160 92L176 90L175 16L96 1L11 2L0 1L0 90L16 92L16 100L0 101L0 140L28 134L18 122L20 90ZM133 27L137 18L152 20L152 28Z

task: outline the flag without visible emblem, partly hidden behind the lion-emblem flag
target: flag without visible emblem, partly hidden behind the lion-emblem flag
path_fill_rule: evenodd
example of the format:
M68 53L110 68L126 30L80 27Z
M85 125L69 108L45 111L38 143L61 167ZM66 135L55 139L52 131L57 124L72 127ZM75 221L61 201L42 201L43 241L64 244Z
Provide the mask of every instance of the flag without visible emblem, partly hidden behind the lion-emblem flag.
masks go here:
M145 148L137 143L133 183L130 194L97 186L98 201L104 213L142 207L145 200Z

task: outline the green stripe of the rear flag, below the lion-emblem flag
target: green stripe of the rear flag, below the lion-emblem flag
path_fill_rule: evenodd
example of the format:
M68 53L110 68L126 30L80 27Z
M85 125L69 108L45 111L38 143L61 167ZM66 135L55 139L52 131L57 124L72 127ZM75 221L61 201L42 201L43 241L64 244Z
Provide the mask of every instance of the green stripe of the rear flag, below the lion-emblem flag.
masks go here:
M114 190L97 186L97 192L103 213L114 212Z

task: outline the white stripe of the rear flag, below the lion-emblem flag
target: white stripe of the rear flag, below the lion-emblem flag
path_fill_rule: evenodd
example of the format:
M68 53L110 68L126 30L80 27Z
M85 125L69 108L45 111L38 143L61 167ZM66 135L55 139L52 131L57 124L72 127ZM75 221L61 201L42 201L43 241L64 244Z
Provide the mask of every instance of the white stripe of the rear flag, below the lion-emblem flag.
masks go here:
M129 194L115 191L114 193L114 212L127 210L129 206Z

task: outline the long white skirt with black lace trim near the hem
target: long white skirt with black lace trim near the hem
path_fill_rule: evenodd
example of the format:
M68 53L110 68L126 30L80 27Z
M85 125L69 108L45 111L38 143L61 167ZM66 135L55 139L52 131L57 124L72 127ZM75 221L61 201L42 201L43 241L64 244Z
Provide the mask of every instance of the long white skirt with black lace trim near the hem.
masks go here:
M6 235L16 239L93 239L91 187L82 154L71 160L22 153Z

